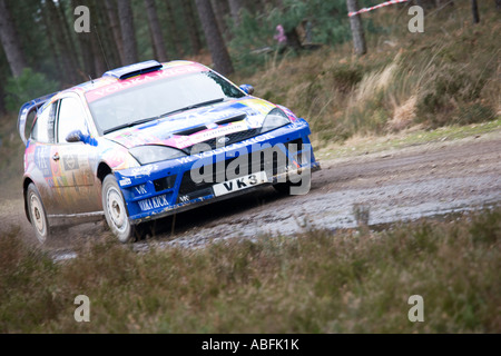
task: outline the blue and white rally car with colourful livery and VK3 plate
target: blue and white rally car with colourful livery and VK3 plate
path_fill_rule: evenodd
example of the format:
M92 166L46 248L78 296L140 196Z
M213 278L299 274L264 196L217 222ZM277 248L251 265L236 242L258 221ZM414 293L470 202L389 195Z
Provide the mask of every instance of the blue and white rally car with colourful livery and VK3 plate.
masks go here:
M141 222L264 186L307 192L320 169L308 123L253 91L200 63L146 61L24 103L24 209L38 239L105 217L127 243Z

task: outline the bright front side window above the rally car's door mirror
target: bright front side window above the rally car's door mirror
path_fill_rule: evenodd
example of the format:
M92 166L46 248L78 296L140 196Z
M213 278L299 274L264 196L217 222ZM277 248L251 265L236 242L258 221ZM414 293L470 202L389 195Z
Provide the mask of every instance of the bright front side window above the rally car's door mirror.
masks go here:
M88 134L86 115L81 102L77 98L65 98L59 105L58 142L66 144L68 134L80 130Z

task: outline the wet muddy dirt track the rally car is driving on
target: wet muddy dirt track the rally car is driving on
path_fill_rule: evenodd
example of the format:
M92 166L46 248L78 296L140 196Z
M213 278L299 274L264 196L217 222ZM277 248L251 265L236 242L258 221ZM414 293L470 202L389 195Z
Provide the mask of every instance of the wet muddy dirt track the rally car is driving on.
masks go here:
M308 195L286 197L266 188L200 207L177 215L175 221L157 220L135 248L354 227L354 205L369 208L369 224L379 225L501 204L499 132L321 162ZM21 200L6 200L2 228L19 225L21 235L32 239L22 209ZM60 231L46 248L63 253L77 241L106 234L101 224L80 225Z

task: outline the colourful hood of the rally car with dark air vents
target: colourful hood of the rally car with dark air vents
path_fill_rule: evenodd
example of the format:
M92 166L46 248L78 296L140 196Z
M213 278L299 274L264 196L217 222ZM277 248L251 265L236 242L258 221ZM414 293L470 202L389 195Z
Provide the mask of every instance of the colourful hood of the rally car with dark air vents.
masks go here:
M105 138L127 148L164 145L178 149L240 131L256 130L275 105L245 97L187 110L110 132ZM289 111L286 111L291 116Z

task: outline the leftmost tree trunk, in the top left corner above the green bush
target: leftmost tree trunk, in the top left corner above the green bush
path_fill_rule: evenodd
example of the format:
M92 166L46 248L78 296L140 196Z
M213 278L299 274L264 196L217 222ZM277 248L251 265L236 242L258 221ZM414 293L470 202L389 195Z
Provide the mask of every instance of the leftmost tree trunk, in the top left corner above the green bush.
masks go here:
M12 75L19 77L27 67L27 61L6 0L0 0L0 41Z

